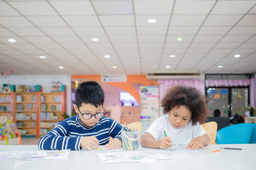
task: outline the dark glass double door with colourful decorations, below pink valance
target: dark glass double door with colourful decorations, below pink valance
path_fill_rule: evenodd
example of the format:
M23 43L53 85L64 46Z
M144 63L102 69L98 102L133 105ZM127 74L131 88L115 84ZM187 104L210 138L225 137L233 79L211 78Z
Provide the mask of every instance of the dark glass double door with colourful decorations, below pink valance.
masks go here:
M220 110L220 116L231 117L235 114L245 115L249 102L248 87L218 87L206 89L208 116L213 116L215 109Z

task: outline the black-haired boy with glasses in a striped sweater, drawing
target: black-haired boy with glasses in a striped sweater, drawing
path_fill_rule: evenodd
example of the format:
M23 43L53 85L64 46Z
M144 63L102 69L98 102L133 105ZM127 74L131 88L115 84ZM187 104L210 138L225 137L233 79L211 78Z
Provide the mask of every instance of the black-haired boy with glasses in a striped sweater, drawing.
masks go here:
M122 125L104 117L104 91L95 81L86 81L75 91L75 115L61 121L38 142L40 149L91 150L122 147ZM110 136L113 140L110 141Z

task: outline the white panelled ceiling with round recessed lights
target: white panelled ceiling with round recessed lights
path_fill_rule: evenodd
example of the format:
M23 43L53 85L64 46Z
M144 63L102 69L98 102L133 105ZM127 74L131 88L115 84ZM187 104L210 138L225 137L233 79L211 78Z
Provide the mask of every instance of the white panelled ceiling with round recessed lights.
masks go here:
M256 1L0 0L0 72L240 74L255 65Z

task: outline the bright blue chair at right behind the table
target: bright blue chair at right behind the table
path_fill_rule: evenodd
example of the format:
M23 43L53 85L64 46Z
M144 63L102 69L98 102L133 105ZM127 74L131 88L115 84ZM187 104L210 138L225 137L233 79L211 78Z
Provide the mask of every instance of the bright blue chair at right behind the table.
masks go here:
M217 144L248 144L252 136L252 123L239 123L218 130Z

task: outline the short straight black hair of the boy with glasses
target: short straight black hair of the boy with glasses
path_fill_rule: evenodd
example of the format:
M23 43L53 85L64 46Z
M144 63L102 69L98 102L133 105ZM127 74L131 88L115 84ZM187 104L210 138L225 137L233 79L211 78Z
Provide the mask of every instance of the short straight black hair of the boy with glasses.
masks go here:
M82 106L82 103L90 103L96 108L103 106L104 98L104 91L96 81L82 82L75 90L75 104L78 108Z

